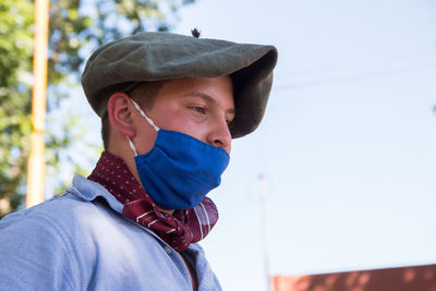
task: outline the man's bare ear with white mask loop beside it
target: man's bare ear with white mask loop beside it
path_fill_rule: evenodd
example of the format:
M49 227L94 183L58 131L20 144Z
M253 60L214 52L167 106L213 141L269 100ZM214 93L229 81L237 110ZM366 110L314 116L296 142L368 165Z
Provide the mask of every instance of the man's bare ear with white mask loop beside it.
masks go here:
M130 97L125 93L116 92L108 100L108 118L113 130L130 138L135 136Z

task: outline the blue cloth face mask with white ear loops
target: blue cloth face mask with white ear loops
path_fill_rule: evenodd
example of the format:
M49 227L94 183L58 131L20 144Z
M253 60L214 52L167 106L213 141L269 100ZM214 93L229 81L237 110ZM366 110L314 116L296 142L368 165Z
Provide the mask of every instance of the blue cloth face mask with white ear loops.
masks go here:
M128 137L145 191L164 209L186 209L198 205L210 190L221 183L229 155L222 148L187 134L159 129L135 101L132 102L157 131L154 147L144 155L137 155Z

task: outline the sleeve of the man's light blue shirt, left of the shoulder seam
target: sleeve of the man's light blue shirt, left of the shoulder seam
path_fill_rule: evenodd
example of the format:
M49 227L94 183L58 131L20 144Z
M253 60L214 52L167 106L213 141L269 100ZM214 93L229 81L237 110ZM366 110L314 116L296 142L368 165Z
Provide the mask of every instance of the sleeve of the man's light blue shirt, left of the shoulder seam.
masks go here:
M76 290L78 266L62 223L53 219L53 203L0 220L0 289ZM58 203L56 203L58 204Z

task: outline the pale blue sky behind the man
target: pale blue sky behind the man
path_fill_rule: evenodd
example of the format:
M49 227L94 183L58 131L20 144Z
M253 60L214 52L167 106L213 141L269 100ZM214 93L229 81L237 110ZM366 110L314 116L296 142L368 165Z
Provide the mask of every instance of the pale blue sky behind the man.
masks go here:
M197 0L175 32L194 27L279 51L265 118L209 194L202 245L223 290L436 263L435 1Z

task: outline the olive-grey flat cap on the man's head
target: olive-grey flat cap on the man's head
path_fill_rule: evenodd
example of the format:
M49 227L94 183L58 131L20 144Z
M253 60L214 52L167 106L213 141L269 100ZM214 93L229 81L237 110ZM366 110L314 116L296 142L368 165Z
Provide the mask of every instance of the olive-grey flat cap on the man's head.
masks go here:
M171 33L142 33L98 48L82 74L82 86L101 117L114 92L142 82L230 75L235 118L232 137L253 132L262 121L277 62L274 46L235 44Z

